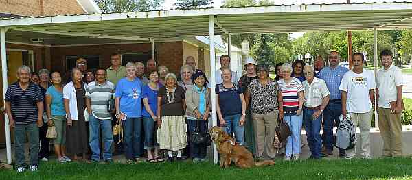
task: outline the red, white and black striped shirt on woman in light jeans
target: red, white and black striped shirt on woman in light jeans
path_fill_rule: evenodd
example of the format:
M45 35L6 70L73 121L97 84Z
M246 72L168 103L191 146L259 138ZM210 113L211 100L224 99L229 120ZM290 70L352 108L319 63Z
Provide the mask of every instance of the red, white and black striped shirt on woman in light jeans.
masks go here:
M286 84L284 79L277 81L279 83L280 89L282 90L283 106L284 107L297 107L299 106L298 92L305 90L299 79L296 77L291 77L292 81Z

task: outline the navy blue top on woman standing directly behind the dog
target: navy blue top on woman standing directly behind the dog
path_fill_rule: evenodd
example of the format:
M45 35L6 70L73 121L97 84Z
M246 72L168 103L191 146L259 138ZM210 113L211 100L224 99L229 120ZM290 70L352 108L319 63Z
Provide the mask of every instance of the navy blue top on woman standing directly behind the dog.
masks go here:
M242 100L239 94L243 92L238 83L233 83L231 88L225 88L222 83L216 84L215 91L219 95L219 107L223 117L242 114Z

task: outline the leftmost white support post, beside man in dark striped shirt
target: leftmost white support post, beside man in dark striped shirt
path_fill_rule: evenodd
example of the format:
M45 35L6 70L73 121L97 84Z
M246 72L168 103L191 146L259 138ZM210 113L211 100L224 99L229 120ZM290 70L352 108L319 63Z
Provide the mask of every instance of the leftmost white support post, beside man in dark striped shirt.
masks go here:
M0 29L0 49L1 49L1 77L3 78L3 99L7 91L7 54L5 50L5 32L7 29ZM10 138L10 126L7 114L4 115L5 126L5 147L7 152L7 164L12 164L12 140Z

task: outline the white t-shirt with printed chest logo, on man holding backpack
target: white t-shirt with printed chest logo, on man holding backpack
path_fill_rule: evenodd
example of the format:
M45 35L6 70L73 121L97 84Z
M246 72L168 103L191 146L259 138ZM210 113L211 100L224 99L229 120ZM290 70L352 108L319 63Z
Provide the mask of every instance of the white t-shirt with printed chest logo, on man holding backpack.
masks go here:
M356 74L352 70L343 75L339 90L347 92L346 110L352 113L365 113L372 110L369 90L375 89L374 73L363 70Z

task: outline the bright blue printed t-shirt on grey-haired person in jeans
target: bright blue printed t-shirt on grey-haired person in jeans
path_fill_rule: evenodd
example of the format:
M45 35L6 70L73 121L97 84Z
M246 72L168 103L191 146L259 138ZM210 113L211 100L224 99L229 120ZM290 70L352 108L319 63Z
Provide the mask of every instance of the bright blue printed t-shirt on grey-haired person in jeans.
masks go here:
M126 118L141 118L141 87L139 78L128 81L123 77L117 82L115 97L120 98L120 112L126 114Z

